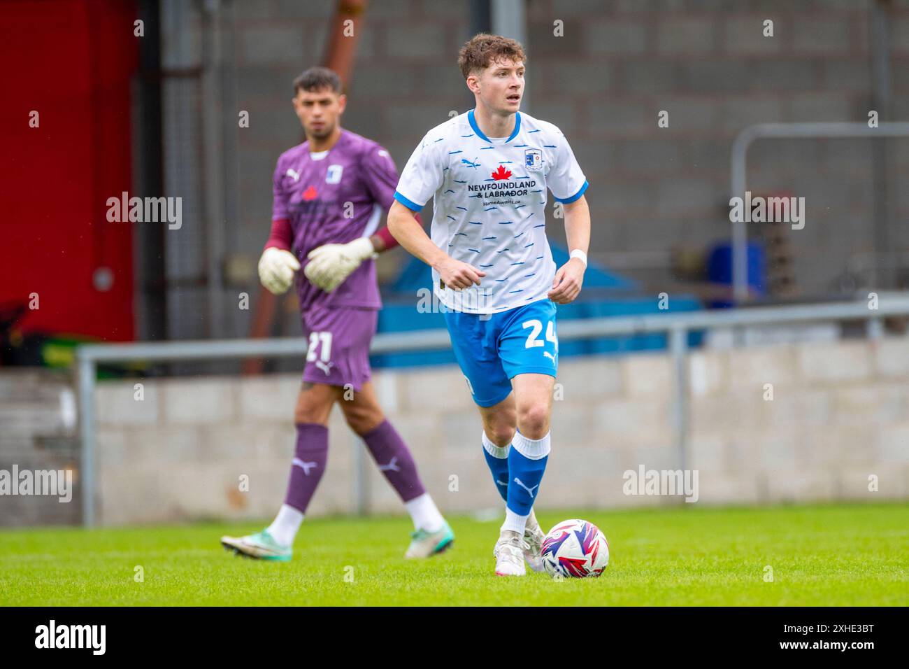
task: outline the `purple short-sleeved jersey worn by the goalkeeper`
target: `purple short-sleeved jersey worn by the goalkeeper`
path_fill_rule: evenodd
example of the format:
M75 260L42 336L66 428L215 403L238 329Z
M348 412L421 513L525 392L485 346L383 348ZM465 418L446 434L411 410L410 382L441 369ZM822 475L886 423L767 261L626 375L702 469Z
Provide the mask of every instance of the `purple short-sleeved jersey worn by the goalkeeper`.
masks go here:
M381 309L375 261L364 260L330 293L306 279L306 255L323 244L369 237L395 200L398 174L385 148L342 129L334 147L309 152L309 142L286 150L275 168L272 220L286 218L293 230L291 251L300 261L296 289L300 309Z

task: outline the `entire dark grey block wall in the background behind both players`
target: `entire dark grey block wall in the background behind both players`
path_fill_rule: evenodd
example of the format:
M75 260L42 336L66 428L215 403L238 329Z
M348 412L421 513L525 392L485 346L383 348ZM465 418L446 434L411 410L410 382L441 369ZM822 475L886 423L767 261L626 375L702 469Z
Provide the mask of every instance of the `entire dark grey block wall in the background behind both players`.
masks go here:
M304 7L305 5L305 7ZM240 244L267 237L277 155L302 138L290 82L324 53L334 3L260 0L235 7ZM759 122L865 121L871 105L870 0L528 0L530 113L564 130L591 182L595 254L707 245L728 235L729 154ZM909 117L909 0L892 4L893 109ZM469 0L370 5L349 87L345 127L373 137L403 167L425 130L473 106L455 65L469 38ZM774 37L762 34L774 21ZM564 36L554 36L562 21ZM669 127L657 114L669 112ZM909 140L891 142L894 221ZM749 159L755 192L806 198L792 231L804 294L825 293L850 254L870 248L871 150L861 140L762 141ZM427 218L431 212L427 209ZM564 238L559 221L550 234ZM893 243L909 238L894 225ZM405 261L395 250L380 271ZM638 275L654 292L668 268ZM295 326L296 327L296 326ZM295 330L294 330L295 331Z

